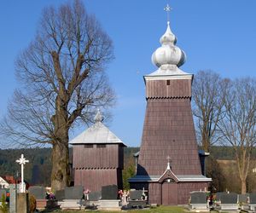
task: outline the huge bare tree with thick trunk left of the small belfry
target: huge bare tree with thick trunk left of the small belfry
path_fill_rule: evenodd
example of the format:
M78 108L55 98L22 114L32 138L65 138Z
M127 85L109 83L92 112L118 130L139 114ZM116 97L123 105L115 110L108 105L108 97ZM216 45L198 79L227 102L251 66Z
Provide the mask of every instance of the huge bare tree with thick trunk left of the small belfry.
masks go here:
M113 104L113 90L103 70L113 59L113 45L79 0L44 9L32 43L16 60L22 87L9 103L1 132L22 145L51 144L51 186L70 181L68 133L96 107Z

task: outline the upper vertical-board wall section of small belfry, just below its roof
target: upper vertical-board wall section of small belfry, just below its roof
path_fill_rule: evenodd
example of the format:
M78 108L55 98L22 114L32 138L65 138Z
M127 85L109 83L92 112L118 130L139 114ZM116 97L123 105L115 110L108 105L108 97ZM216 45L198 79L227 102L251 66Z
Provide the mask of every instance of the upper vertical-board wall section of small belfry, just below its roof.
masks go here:
M106 147L92 148L73 145L73 168L89 169L123 169L124 148L119 144L107 144Z

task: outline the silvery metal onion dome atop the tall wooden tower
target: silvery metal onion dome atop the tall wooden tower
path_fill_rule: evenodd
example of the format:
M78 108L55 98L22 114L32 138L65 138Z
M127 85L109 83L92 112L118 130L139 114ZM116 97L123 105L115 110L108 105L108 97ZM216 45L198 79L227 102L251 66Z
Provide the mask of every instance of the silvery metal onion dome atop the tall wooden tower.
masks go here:
M152 55L152 62L155 66L162 65L176 65L182 66L186 60L186 55L182 49L175 46L177 38L172 33L170 22L167 22L167 29L165 34L160 37L162 46L156 49Z

